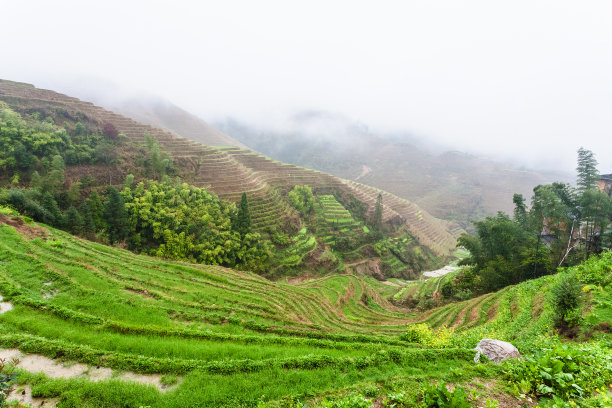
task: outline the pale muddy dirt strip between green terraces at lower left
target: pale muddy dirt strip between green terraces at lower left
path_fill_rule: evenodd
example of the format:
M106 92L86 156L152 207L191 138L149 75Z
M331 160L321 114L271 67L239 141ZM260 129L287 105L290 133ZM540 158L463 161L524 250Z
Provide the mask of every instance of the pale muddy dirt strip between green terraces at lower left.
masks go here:
M43 373L51 378L83 377L93 382L115 378L122 381L133 381L144 385L152 385L162 392L169 391L176 387L176 385L166 387L165 384L162 384L161 374L113 372L113 370L107 367L95 368L81 363L62 364L57 360L39 354L24 354L17 349L0 349L0 359L6 359L7 361L19 359L17 368L32 373Z

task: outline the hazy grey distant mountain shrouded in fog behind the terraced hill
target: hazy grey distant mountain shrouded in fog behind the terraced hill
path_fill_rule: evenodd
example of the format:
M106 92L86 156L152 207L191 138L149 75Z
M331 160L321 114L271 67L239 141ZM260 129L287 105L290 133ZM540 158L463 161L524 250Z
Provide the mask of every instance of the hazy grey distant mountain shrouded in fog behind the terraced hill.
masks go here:
M433 152L412 135L378 134L327 112L302 112L288 130L235 119L214 126L268 156L389 191L465 229L486 215L511 212L514 193L529 198L538 184L570 179L458 151Z

